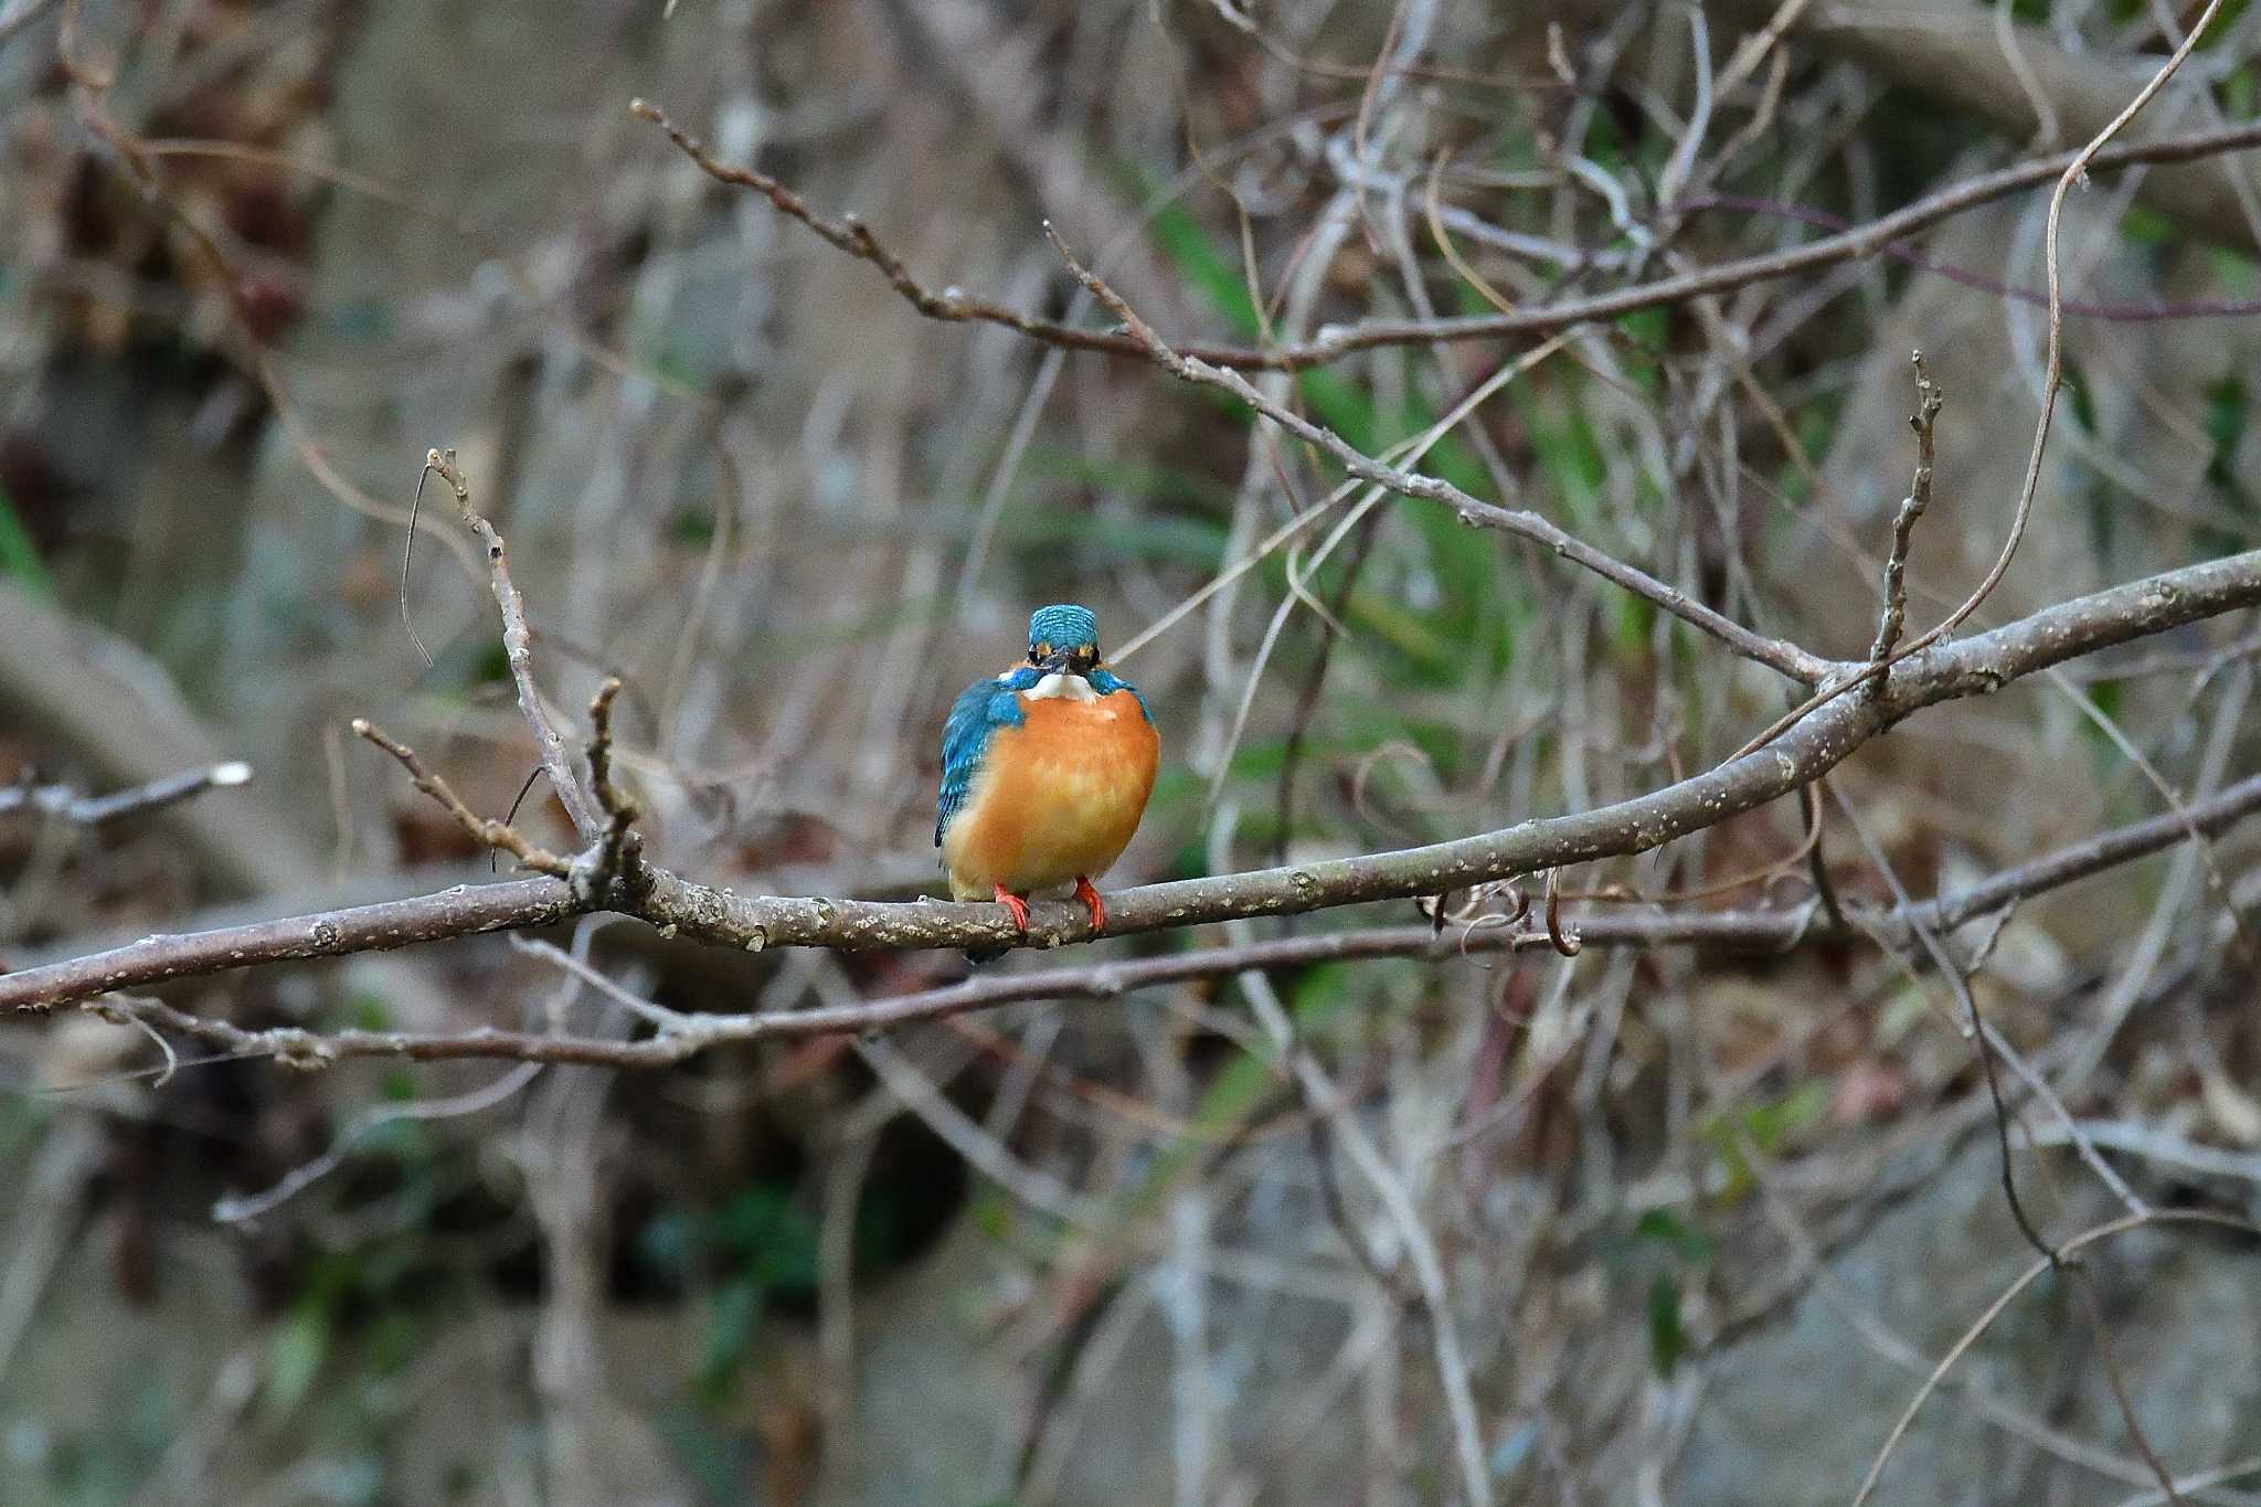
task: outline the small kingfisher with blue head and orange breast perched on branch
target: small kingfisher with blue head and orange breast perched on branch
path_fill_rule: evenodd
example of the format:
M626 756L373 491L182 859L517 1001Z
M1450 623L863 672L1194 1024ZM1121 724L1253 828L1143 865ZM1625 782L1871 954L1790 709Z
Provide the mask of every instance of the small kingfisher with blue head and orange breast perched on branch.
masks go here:
M1160 757L1146 698L1099 660L1099 617L1031 612L1029 657L965 687L943 723L934 845L952 899L995 899L1026 933L1029 895L1074 881L1106 931L1092 879L1130 845Z

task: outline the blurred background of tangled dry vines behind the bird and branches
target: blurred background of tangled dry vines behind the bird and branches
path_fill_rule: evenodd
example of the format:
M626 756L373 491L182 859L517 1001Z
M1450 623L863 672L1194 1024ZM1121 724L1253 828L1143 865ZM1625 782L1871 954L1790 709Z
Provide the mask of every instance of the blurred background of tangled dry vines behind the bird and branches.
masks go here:
M0 956L486 877L346 732L380 721L493 813L534 768L452 497L427 488L405 560L427 447L511 542L549 698L626 680L653 856L739 892L941 892L943 712L1045 601L1140 635L1119 669L1164 773L1115 883L1585 809L1784 709L1648 603L1420 502L1339 504L1180 612L1339 472L1144 361L922 319L633 97L861 215L932 291L1101 323L1049 217L1164 334L1291 343L1795 246L2076 147L2198 9L0 0L0 779L255 768L99 834L0 820ZM2256 38L2229 5L2132 136L2250 117ZM1911 621L2001 547L2044 206L1578 328L1424 465L1861 655L1913 348L1947 407ZM2067 393L1978 621L2254 545L2256 249L2236 156L2071 197ZM1379 452L1533 346L1264 382ZM1827 800L1836 888L1954 888L2252 770L2252 630L1863 750ZM520 820L570 836L545 798ZM1784 802L1565 883L1800 906L1804 831ZM1960 938L2157 1207L2261 1213L2254 859L2229 831ZM1101 951L1386 920L1418 911ZM604 920L543 940L678 1010L963 972ZM500 938L172 996L631 1028ZM93 1017L0 1026L9 1507L1843 1502L2033 1261L1949 992L1870 947L1339 962L665 1073L158 1069ZM2053 1238L2119 1211L2062 1136L2017 1168ZM2110 1356L2035 1283L1877 1500L2159 1500L2114 1371L2191 1500L2261 1500L2252 1247L2143 1229L2091 1272Z

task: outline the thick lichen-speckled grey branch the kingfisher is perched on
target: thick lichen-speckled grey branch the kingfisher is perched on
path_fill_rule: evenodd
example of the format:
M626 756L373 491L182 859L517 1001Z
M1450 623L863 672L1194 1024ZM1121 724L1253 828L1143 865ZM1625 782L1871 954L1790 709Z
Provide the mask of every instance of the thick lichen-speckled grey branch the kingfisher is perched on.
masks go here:
M2261 551L2116 585L2044 608L1992 633L1926 648L1899 664L1883 694L1843 696L1768 748L1662 791L1452 843L1121 890L1108 899L1108 935L1438 895L1515 874L1648 852L1811 784L1861 743L1922 707L1983 696L2051 664L2256 603L2261 603ZM2173 825L2175 831L2186 831L2180 818ZM744 951L1058 947L1092 935L1083 908L1072 904L1033 906L1029 933L1022 938L999 906L739 897L658 865L644 865L642 888L633 895L615 890L613 904L624 915L667 933ZM66 1005L111 990L136 990L253 962L545 926L586 908L565 881L522 879L224 931L145 938L106 953L0 974L0 1008ZM1587 933L1587 940L1594 940L1594 933Z

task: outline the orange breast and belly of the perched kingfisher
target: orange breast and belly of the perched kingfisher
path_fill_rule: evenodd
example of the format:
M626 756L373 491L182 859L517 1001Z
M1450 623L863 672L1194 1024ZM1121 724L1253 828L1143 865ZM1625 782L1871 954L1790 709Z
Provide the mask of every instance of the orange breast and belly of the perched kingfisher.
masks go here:
M959 899L1097 879L1137 831L1162 741L1137 696L1020 698L1022 725L990 737L965 811L943 834Z

